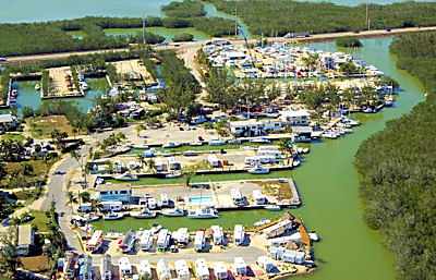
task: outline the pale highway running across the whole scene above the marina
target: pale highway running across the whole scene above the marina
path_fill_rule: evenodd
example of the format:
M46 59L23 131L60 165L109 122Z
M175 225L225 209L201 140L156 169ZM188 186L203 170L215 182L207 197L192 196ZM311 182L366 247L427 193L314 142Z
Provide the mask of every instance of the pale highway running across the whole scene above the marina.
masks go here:
M322 41L322 40L334 40L339 37L344 37L344 36L358 36L358 37L378 37L378 36L396 36L399 34L404 34L404 33L414 33L414 32L424 32L424 31L436 31L436 26L428 26L428 27L408 27L408 28L395 28L391 32L386 32L385 29L380 31L362 31L359 34L354 34L352 32L342 32L342 33L326 33L326 34L314 34L311 35L311 37L307 38L296 38L296 39L286 39L283 37L278 37L278 38L267 38L269 41L271 40L280 40L280 41ZM234 45L244 45L244 40L234 40L231 39L231 41ZM191 42L178 42L178 44L170 44L169 46L158 46L154 47L155 49L166 49L166 48L181 48L181 49L186 49L190 51L190 49L197 49L203 45L204 41L191 41ZM255 42L255 39L250 39L249 42ZM108 49L108 50L89 50L89 51L70 51L70 52L59 52L59 53L45 53L45 54L29 54L29 56L13 56L13 57L8 57L8 62L3 62L0 64L7 64L7 63L14 63L17 64L20 62L37 62L40 60L48 60L48 59L64 59L68 58L72 54L88 54L88 53L99 53L99 52L107 52L107 51L124 51L126 48L123 49ZM190 52L195 53L195 52ZM187 54L186 54L187 56ZM192 57L192 56L191 56Z

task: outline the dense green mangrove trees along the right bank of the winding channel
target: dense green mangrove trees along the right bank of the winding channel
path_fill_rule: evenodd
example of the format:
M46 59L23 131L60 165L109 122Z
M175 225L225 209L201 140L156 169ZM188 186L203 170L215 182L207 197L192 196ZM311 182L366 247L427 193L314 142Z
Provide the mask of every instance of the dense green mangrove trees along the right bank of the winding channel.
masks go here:
M385 235L398 279L435 279L436 34L401 36L391 51L428 94L411 113L362 143L355 166L363 175L364 219Z

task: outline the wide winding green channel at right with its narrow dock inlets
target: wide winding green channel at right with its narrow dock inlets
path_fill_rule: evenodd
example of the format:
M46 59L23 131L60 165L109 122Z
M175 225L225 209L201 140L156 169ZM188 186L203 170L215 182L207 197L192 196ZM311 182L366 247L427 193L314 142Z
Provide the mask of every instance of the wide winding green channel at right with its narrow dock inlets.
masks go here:
M326 141L311 145L300 168L287 172L272 172L267 176L292 176L301 194L303 206L291 212L301 217L308 230L316 230L322 242L315 244L315 258L318 270L304 278L319 280L367 280L393 279L393 260L383 247L378 232L368 229L362 220L363 205L359 198L359 176L353 167L354 155L371 134L385 127L386 121L397 119L409 112L423 100L419 82L405 72L396 69L396 60L388 47L391 38L364 40L365 47L354 50L354 56L364 59L400 82L402 90L392 108L386 108L376 114L356 114L362 125L354 133L341 139ZM336 50L335 42L313 44L314 48ZM210 180L243 179L249 174L216 175ZM256 176L259 178L259 176ZM209 178L195 180L208 181ZM225 228L233 223L251 226L261 218L272 218L278 212L233 211L220 212L217 220L197 221L187 218L165 218L138 221L125 218L123 221L98 221L95 224L106 230L125 231L130 228L146 228L159 222L170 229L189 227L205 228L215 223ZM303 277L301 277L303 278Z

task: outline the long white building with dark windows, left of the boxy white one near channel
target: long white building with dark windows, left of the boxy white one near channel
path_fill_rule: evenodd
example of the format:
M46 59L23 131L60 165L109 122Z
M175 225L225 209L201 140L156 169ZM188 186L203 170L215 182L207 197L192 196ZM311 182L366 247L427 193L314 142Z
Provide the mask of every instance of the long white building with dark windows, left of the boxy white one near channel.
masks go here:
M267 134L270 130L280 131L281 122L276 120L230 122L230 131L240 136L261 136Z

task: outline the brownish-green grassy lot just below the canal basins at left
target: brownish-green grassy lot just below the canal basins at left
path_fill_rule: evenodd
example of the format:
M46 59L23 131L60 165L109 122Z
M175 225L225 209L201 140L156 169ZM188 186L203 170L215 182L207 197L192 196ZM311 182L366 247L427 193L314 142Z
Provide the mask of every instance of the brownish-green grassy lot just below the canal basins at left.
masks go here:
M26 120L26 124L31 127L32 135L35 137L50 137L50 133L58 129L60 132L66 132L73 135L73 126L71 126L64 115L36 117Z

